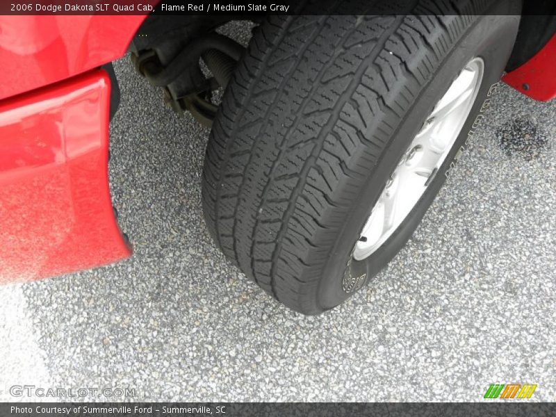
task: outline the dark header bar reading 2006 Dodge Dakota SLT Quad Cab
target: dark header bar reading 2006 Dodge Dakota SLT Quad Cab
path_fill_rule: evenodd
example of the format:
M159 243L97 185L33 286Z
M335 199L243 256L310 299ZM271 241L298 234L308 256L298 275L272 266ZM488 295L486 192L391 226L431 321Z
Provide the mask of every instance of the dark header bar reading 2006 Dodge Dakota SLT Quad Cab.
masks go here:
M473 3L498 6L470 8ZM554 0L525 0L523 9L521 3L521 0L1 0L0 15L499 15L515 14L514 10L525 15L556 15Z

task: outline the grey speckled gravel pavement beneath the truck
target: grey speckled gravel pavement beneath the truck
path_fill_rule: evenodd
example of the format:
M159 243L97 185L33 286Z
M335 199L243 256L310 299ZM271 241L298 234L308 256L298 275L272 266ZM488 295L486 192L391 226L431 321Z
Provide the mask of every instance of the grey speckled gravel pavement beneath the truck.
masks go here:
M0 288L0 400L35 384L158 401L475 401L528 382L532 400L556 401L556 101L500 85L406 247L343 306L305 317L209 238L208 130L127 60L116 72L110 174L135 254Z

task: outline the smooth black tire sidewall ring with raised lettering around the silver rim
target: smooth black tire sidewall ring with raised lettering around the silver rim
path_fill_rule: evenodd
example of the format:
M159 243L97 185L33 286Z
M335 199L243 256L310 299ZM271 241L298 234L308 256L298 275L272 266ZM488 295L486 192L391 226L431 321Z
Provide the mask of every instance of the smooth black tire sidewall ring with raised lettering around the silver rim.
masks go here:
M318 304L322 309L331 309L341 304L344 300L362 288L368 280L375 276L403 247L418 226L427 208L432 204L436 194L445 181L448 170L455 163L455 156L465 149L469 131L480 113L484 99L491 85L500 80L505 63L512 51L518 16L479 16L468 28L467 33L452 47L431 77L431 81L421 90L420 95L406 116L400 122L397 131L390 140L390 145L384 151L375 168L370 172L368 184L361 190L358 201L346 222L343 231L336 240L327 265L323 268L324 274L320 281L318 291ZM361 261L352 259L352 249L361 235L363 225L366 223L377 201L384 184L391 175L395 165L406 151L411 140L416 136L423 120L431 113L434 105L443 97L450 84L459 71L469 60L480 56L484 60L484 75L477 98L471 108L464 126L450 153L445 158L439 172L431 181L418 204L409 213L400 227L379 249ZM343 279L351 276L355 282L353 291L346 293L343 290Z

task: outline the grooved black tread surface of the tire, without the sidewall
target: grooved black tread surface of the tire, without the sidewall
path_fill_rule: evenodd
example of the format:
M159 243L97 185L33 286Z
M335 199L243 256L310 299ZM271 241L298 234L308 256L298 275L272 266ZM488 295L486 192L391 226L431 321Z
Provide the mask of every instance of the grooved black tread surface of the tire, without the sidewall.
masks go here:
M320 269L369 167L470 23L295 16L257 28L208 141L202 201L224 254L277 300L322 311Z

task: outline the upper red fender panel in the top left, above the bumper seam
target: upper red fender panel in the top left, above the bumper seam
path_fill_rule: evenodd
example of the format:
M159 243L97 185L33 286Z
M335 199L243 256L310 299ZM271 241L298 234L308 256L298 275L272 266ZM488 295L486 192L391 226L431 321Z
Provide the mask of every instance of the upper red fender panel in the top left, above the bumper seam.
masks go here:
M0 16L0 99L120 58L145 17Z

